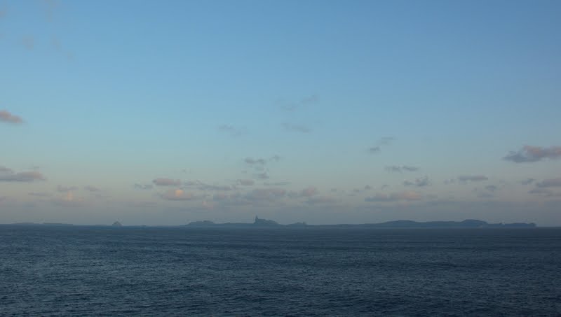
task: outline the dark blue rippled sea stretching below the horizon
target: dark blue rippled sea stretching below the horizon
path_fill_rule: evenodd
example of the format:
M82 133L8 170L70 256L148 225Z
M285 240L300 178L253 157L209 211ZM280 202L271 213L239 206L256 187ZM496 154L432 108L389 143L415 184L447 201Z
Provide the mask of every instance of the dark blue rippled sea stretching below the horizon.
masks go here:
M1 316L560 316L561 229L0 225Z

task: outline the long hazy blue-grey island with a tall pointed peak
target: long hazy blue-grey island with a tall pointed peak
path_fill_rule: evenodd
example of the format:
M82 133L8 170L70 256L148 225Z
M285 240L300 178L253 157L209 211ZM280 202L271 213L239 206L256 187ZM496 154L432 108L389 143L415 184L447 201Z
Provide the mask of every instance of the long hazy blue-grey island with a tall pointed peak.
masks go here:
M337 228L533 228L535 223L487 223L482 220L466 219L464 221L427 221L394 220L386 223L362 223L358 225L308 225L306 223L291 223L280 225L273 220L266 220L255 216L253 223L213 223L209 220L194 221L186 227L337 227Z

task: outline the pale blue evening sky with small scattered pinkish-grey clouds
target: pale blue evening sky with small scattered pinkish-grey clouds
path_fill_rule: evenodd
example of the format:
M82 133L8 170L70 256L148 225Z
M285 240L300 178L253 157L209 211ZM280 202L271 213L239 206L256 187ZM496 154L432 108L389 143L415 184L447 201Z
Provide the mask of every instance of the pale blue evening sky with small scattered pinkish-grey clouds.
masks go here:
M560 226L560 16L0 0L0 223Z

